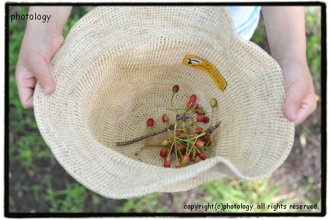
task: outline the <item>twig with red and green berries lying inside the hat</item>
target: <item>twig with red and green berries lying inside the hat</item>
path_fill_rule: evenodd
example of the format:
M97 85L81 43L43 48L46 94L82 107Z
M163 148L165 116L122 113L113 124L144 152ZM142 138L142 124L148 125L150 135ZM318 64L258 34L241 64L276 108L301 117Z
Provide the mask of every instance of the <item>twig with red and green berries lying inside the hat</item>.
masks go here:
M212 133L216 128L219 128L221 123L221 121L219 121L212 125L214 107L217 106L216 99L213 98L210 101L212 107L212 116L210 119L205 116L204 109L195 103L197 100L195 94L190 96L190 99L185 106L186 108L175 109L173 107L173 97L179 91L179 86L174 85L172 91L171 111L176 114L176 119L173 123L168 124L169 116L164 114L161 119L165 124L165 128L151 133L151 128L154 126L154 120L149 118L147 120L147 126L149 128L149 133L147 135L126 142L116 142L116 145L125 146L147 139L145 145L138 150L138 152L135 152L135 155L140 154L146 147L162 147L159 155L160 157L164 157L164 167L171 167L171 158L173 156L176 158L176 168L187 166L189 161L198 163L201 160L207 159L206 153L210 149L212 149L213 156L215 156L215 145ZM183 112L179 114L178 111ZM193 114L197 114L198 116L193 118ZM204 130L202 127L197 126L197 123L209 123L209 126ZM193 132L190 131L192 126L197 127ZM168 138L161 140L160 144L148 144L149 137L165 132L167 133Z

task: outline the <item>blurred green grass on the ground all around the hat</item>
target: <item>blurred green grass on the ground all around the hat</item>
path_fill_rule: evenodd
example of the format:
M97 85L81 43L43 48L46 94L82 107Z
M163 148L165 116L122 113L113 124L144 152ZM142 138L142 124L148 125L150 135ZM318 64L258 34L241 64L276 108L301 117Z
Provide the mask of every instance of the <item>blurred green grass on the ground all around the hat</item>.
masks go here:
M75 6L71 11L71 16L63 30L66 36L71 27L79 18L85 15L93 7ZM26 6L10 7L10 14L25 14L28 11ZM314 80L315 90L320 89L320 63L321 63L321 36L320 36L320 8L310 6L306 11L306 34L307 34L307 60ZM20 44L25 32L26 21L13 20L9 22L9 159L11 168L20 165L24 173L41 173L44 181L42 183L25 183L24 179L18 179L15 188L20 200L26 203L22 209L18 200L10 196L11 212L107 212L114 209L114 201L99 196L96 193L85 188L83 185L73 180L66 174L66 178L60 180L63 182L62 188L55 188L52 185L51 166L40 166L37 161L54 161L49 147L44 143L33 110L25 110L18 99L18 91L15 81L16 63L20 51ZM266 32L264 23L259 23L252 42L261 44L265 41ZM320 94L319 94L320 96ZM313 121L314 120L314 121ZM302 126L302 129L315 140L321 140L320 135L315 135L312 126L317 126L317 119ZM11 175L11 173L10 173ZM230 177L224 177L218 181L204 183L193 189L195 197L190 197L191 204L212 204L222 202L229 204L315 204L320 205L319 196L313 193L313 178L308 179L307 185L295 187L295 191L283 194L280 193L284 185L280 187L269 184L269 178L260 181L240 181ZM54 181L54 180L53 180ZM59 181L59 180L58 180ZM294 187L293 187L294 188ZM16 192L15 191L15 192ZM25 193L33 192L35 200L47 204L42 210L29 208L25 201ZM248 192L248 193L247 193ZM304 199L296 197L295 194L302 193ZM170 206L161 206L159 198L164 197L164 193L154 193L144 197L122 200L116 207L115 212L175 212L183 210L183 201L185 192L173 194L173 202ZM319 212L319 210L314 210ZM215 209L209 209L207 212L216 212ZM226 212L245 212L242 209L228 209ZM274 209L255 209L253 212L271 212ZM308 210L284 209L276 212L310 212Z

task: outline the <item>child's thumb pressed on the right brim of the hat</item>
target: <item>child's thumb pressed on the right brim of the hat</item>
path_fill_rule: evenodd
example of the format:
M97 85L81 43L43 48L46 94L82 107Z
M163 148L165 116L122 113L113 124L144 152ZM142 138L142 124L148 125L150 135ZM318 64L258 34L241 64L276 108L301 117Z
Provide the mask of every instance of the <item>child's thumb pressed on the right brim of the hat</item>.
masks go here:
M295 121L304 93L299 83L293 84L286 90L283 113L289 121Z

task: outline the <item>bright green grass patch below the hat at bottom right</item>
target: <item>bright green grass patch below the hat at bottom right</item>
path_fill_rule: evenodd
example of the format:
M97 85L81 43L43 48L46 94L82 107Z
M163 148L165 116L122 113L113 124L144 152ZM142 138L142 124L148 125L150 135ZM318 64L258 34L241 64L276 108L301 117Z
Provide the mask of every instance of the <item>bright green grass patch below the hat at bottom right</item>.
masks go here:
M194 191L202 190L204 193L202 196L193 197L189 202L190 205L212 205L208 209L199 207L197 210L193 209L190 212L206 212L206 213L286 213L286 212L320 212L320 209L294 209L290 207L293 204L300 205L314 205L321 207L320 201L316 201L315 197L311 197L311 200L301 200L300 197L296 197L295 192L281 193L280 191L284 188L284 185L276 187L274 184L269 184L269 177L263 178L259 181L242 181L230 178L228 176L219 179L218 181L212 181L203 183L199 187L195 188ZM305 189L297 188L298 191L305 190L310 192L314 188L312 180ZM169 207L159 207L158 201L164 193L153 193L145 197L138 197L128 200L123 204L122 207L118 207L117 212L173 212L175 209L184 209L188 212L188 208L182 203L179 195L173 197L173 202ZM252 206L252 209L216 209L216 204L228 204L228 205L240 205ZM264 204L264 207L262 207ZM281 206L279 208L278 206Z

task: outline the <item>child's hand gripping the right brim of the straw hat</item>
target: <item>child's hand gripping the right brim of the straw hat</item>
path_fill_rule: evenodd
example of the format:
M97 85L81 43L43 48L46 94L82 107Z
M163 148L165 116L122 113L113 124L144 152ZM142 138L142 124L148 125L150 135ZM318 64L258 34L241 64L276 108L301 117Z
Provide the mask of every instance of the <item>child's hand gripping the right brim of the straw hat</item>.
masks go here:
M306 62L287 58L279 63L286 84L283 112L286 118L294 121L297 126L317 107L312 77Z

